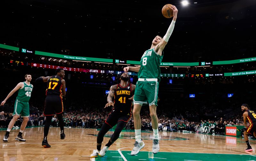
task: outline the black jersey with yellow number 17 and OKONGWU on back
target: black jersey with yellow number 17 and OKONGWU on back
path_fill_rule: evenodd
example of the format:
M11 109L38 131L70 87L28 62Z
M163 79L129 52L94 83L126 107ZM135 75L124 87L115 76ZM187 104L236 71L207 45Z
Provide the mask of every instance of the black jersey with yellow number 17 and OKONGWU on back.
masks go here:
M61 95L62 83L61 77L58 75L50 77L47 81L46 96L49 95Z

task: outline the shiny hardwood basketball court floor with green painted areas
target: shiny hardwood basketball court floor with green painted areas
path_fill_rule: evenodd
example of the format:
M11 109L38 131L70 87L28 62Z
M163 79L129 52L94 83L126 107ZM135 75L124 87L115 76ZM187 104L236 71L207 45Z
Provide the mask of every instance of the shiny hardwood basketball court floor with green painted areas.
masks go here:
M99 129L65 128L66 138L60 139L60 128L50 128L48 143L51 148L41 146L43 127L26 128L26 142L15 141L20 129L12 129L8 143L2 141L5 130L0 131L0 160L92 160L92 161L256 161L255 151L245 152L242 138L200 133L159 132L160 150L153 154L151 131L142 131L145 147L136 156L130 152L134 143L134 130L123 130L119 139L109 148L104 157L90 158L96 149ZM108 142L113 130L105 137L102 147ZM252 148L255 141L250 140Z

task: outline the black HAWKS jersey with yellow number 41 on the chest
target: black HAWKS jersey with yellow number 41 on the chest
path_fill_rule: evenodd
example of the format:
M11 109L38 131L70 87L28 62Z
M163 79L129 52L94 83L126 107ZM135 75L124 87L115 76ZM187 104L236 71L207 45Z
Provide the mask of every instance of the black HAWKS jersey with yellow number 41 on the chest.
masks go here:
M132 100L133 96L132 84L128 83L126 87L117 84L114 94L114 112L123 113L124 115L132 115Z

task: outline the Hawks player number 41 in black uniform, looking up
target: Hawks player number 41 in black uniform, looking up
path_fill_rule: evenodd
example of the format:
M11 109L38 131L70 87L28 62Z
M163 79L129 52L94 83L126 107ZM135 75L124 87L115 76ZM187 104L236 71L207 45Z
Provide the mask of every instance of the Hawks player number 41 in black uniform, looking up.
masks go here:
M127 124L127 121L132 117L132 96L135 90L135 85L129 83L130 76L127 73L122 73L119 78L120 83L110 87L106 107L113 106L113 111L108 115L105 123L102 125L97 136L97 149L91 154L91 157L103 157L110 145L112 145L119 137L122 129ZM114 102L112 101L114 96ZM117 124L117 125L116 125ZM108 143L100 150L104 135L110 128L116 125L115 132L112 134Z

